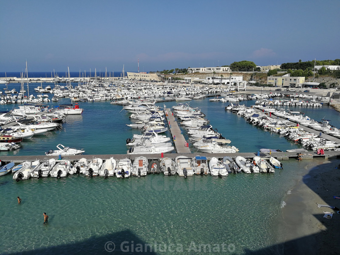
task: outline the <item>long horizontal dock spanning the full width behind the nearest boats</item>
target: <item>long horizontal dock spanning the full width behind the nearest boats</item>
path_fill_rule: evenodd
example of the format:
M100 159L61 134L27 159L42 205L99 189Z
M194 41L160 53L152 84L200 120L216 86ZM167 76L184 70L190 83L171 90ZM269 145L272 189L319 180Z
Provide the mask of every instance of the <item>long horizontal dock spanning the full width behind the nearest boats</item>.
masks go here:
M278 160L285 160L290 158L297 158L297 152L272 152L269 153L260 153L260 157L270 158L274 157ZM81 158L86 158L87 160L91 160L92 158L101 158L101 159L109 159L113 157L114 159L135 159L137 157L144 156L147 159L162 159L161 154L98 154L98 155L70 155L63 156L63 160L70 161L78 161ZM231 158L235 158L237 156L241 156L244 158L253 158L257 156L257 152L244 152L244 153L164 153L163 158L176 158L177 156L186 156L189 158L193 158L194 156L205 156L207 159L211 159L212 157L223 158L224 156L229 156ZM337 158L340 157L340 151L325 151L325 155L318 155L316 151L305 151L302 152L302 159L313 159L313 158ZM35 156L1 156L0 159L2 162L14 162L14 163L22 163L24 161L35 161L37 159L43 160L44 158L54 158L58 160L58 156L47 156L47 155L35 155Z

